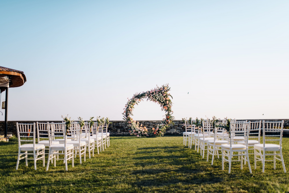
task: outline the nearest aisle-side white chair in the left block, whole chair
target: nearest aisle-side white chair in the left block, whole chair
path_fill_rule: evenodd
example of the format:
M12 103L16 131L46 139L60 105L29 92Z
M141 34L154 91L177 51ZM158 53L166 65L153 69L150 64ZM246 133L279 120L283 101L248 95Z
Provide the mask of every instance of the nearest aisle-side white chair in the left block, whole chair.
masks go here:
M73 144L67 143L67 128L65 123L49 123L48 124L48 137L49 137L49 154L48 154L48 162L46 171L48 171L49 163L53 163L54 159L54 167L56 167L56 159L63 160L65 163L65 170L67 171L67 162L72 160L72 167L74 167L74 156L73 156ZM55 137L62 137L64 141L63 143L53 144L55 141ZM59 155L63 155L64 158L60 159Z

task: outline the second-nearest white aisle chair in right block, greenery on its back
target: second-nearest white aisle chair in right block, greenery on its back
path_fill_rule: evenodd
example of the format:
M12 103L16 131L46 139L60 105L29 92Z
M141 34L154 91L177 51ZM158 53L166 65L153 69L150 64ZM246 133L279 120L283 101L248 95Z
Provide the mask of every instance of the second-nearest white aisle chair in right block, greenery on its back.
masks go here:
M221 151L221 145L222 144L228 144L228 137L229 135L225 135L227 134L227 132L221 128L218 127L218 125L224 125L226 124L225 120L219 120L218 123L216 123L216 127L214 128L214 140L209 140L208 143L208 151L207 151L207 161L209 161L209 155L212 155L212 163L211 165L213 165L214 163L214 156L217 155L218 159L219 159L219 151ZM222 153L221 153L222 154Z

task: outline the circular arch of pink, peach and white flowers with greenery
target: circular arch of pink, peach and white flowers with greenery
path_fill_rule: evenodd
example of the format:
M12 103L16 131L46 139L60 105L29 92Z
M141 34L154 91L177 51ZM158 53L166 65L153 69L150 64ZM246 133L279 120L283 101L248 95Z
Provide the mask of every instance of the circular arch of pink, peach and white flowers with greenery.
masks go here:
M171 88L168 86L168 84L162 85L161 87L158 87L157 85L156 88L150 91L134 94L134 96L127 101L123 112L123 119L127 122L131 135L138 137L159 137L164 135L166 128L169 127L169 124L174 119L172 116L173 111L171 101L171 98L173 99L173 97L170 93L168 93L170 89ZM143 127L139 122L134 121L131 118L133 115L132 110L134 105L138 105L138 103L141 100L143 101L145 98L147 98L147 101L150 100L160 104L162 111L166 112L166 118L163 119L162 123L158 125L157 128L152 128L151 131L148 131L146 127Z

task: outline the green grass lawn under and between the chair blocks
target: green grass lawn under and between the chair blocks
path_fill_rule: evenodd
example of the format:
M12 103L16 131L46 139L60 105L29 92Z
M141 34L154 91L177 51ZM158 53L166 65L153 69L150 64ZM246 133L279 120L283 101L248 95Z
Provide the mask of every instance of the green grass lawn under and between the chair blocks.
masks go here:
M289 170L289 138L283 138L283 156ZM281 162L262 163L254 158L240 169L240 163L228 163L222 171L221 159L214 166L202 159L193 148L183 145L182 136L159 138L111 137L110 147L92 159L74 167L68 163L68 171L62 161L56 167L42 167L37 161L20 161L16 171L18 142L0 143L0 192L289 192L289 174L284 174ZM211 156L209 157L209 159ZM47 162L47 159L45 160ZM46 163L45 163L46 164ZM288 171L289 172L289 171Z

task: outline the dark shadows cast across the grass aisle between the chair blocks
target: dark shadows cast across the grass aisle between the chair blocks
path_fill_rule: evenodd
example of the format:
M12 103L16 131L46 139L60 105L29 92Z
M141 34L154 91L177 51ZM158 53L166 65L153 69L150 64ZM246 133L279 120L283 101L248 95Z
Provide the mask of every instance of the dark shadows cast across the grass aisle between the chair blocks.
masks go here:
M180 148L179 146L160 147L164 152L173 152ZM156 148L138 148L138 150L151 150ZM186 184L212 184L223 181L223 177L216 176L207 170L207 165L202 164L203 159L199 157L199 153L192 153L187 149L181 149L181 155L151 155L150 153L158 153L159 151L148 151L147 156L138 156L133 158L137 162L135 165L140 168L132 172L134 175L151 176L153 179L139 180L134 184L139 187L144 186L163 186L176 183ZM198 167L194 167L198 165ZM172 167L171 167L172 166ZM148 168L149 167L149 168ZM204 172L208 173L204 175ZM172 175L172 173L174 173ZM166 177L171 176L171 177ZM179 178L179 176L182 176Z

